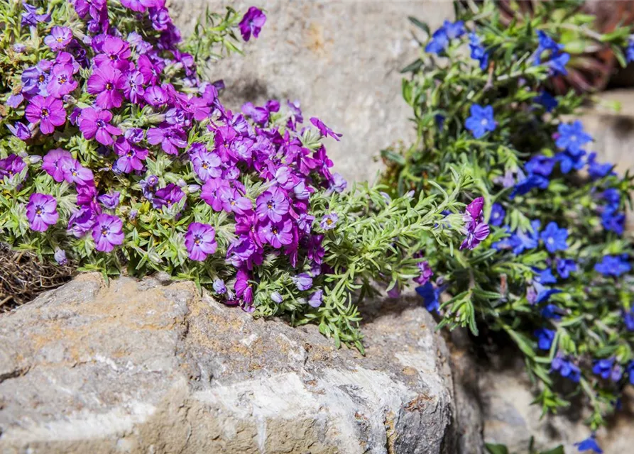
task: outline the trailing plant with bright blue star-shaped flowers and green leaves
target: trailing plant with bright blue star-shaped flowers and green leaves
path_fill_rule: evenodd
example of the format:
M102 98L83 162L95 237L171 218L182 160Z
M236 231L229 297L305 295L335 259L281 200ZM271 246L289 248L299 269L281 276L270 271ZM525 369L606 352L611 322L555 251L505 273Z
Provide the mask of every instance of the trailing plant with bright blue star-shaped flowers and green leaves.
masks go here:
M403 80L417 140L382 156L394 195L450 191L447 170L469 170L491 233L454 255L430 245L436 280L417 291L440 326L505 333L535 403L547 413L583 402L595 431L634 384L633 178L595 153L576 118L587 96L553 96L550 82L584 48L608 45L625 64L634 46L628 28L596 33L581 3L537 2L534 16L505 25L493 1L457 2L456 21L433 33L410 18L426 35ZM579 449L599 452L593 437Z

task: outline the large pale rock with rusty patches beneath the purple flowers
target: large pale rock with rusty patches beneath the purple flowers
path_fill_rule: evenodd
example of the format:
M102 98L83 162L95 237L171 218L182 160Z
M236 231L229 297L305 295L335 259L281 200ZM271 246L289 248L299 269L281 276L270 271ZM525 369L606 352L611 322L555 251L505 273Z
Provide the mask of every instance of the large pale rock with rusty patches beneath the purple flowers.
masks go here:
M0 452L459 452L432 316L384 303L361 356L190 282L80 275L0 314Z

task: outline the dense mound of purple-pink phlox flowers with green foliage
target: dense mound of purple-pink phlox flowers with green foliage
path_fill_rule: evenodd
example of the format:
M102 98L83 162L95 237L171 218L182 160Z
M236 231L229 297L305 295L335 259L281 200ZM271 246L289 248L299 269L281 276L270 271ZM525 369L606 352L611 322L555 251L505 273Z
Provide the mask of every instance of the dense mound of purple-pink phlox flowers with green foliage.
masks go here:
M182 40L164 0L1 2L1 240L106 279L192 279L363 350L357 304L468 233L472 179L344 191L322 144L341 134L297 101L226 109L204 68L265 23L208 11Z

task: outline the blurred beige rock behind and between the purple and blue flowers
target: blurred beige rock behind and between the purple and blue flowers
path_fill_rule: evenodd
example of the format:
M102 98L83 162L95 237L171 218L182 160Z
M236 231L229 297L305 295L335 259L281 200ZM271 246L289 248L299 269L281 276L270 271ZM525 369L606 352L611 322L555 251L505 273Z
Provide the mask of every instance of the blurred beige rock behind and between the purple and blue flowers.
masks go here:
M346 179L373 181L382 148L415 139L410 107L401 95L400 70L418 55L417 30L408 16L432 30L454 15L451 1L214 1L215 11L231 4L246 11L266 9L260 37L246 55L218 62L210 80L224 79L223 102L232 109L246 101L300 100L305 121L317 116L343 133L327 140L334 170ZM209 6L175 1L170 6L183 34ZM417 35L422 37L420 30Z

